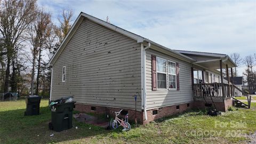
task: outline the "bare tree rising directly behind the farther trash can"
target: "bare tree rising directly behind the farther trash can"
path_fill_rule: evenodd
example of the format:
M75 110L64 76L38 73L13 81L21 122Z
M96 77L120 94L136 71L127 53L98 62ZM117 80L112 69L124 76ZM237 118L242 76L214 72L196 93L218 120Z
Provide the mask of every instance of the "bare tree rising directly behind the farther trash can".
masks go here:
M31 43L31 53L33 55L32 61L32 75L31 75L31 95L34 94L34 77L35 77L35 65L38 55L38 69L37 69L37 86L36 94L38 94L38 85L39 85L39 71L40 71L40 60L41 60L41 51L44 44L47 41L47 37L50 36L51 31L51 14L45 13L42 10L38 10L37 17L35 21L31 22L29 25L29 38Z

